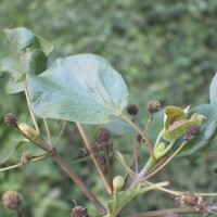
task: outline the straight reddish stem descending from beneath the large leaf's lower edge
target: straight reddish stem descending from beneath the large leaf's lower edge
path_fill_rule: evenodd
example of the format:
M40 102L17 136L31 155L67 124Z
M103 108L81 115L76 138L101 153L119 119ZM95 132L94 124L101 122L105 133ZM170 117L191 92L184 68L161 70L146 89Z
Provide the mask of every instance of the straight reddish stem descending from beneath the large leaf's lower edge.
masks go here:
M112 195L112 189L111 189L110 184L107 183L107 180L106 180L106 178L105 178L105 176L104 176L104 174L103 174L103 171L102 171L102 168L101 168L101 166L100 166L98 159L97 159L95 156L94 156L94 153L93 153L92 150L91 150L90 142L89 142L89 140L88 140L88 137L87 137L87 135L86 135L86 132L85 132L82 126L81 126L79 123L76 123L76 125L77 125L77 128L78 128L78 130L79 130L79 132L80 132L80 135L81 135L81 137L82 137L82 140L84 140L84 142L85 142L85 144L86 144L88 151L90 152L90 156L91 156L91 158L92 158L92 161L93 161L93 163L94 163L94 165L95 165L95 168L97 168L97 170L98 170L98 173L99 173L99 175L100 175L100 178L102 179L102 181L103 181L103 183L104 183L104 187L105 187L107 193L108 193L110 195Z

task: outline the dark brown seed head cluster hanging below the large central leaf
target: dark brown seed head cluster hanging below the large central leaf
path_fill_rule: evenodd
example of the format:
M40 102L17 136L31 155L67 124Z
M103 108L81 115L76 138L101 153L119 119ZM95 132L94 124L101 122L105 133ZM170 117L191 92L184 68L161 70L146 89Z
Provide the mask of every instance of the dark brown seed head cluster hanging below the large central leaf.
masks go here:
M98 162L101 165L106 163L106 156L111 156L113 152L113 142L111 141L111 132L106 128L100 128L95 133L95 142L92 145Z

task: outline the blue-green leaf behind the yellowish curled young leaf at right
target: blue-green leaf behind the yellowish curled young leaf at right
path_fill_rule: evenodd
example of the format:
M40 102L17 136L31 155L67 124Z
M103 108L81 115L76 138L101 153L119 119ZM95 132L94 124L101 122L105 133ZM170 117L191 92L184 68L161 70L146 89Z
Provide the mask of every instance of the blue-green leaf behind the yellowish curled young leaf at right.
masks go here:
M203 104L190 111L188 116L192 115L194 112L204 115L206 118L201 125L200 135L191 139L180 151L178 156L186 156L194 152L205 151L212 148L210 145L214 145L213 141L215 141L217 129L217 108L212 104Z

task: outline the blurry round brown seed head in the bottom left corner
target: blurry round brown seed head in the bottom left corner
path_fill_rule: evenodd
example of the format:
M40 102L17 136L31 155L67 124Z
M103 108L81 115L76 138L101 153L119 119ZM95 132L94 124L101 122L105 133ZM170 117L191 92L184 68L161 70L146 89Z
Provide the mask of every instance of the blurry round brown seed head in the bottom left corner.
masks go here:
M17 210L23 202L23 197L16 191L8 191L2 196L2 205L10 210Z

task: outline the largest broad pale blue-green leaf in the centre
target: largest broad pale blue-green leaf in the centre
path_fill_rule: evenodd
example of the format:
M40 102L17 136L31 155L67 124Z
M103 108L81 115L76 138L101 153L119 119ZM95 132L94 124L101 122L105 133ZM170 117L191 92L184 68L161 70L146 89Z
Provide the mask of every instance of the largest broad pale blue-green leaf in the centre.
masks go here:
M34 113L43 118L103 124L127 104L122 76L94 54L59 59L39 76L29 74L27 81Z

